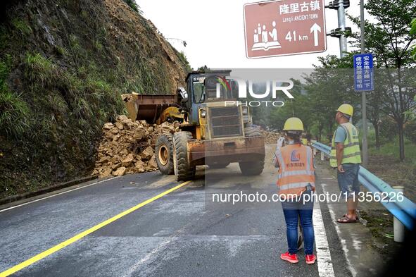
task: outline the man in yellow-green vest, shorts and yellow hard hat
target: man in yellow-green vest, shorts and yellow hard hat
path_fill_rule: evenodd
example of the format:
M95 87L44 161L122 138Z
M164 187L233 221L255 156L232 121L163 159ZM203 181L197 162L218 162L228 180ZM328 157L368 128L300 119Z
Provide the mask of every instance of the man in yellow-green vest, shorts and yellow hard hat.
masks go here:
M360 183L358 170L361 163L360 140L358 130L350 119L353 116L353 106L342 104L336 110L335 120L339 124L332 137L331 158L332 167L337 168L339 189L347 199L347 214L338 219L339 223L354 223L358 221L356 209Z

